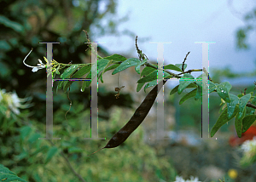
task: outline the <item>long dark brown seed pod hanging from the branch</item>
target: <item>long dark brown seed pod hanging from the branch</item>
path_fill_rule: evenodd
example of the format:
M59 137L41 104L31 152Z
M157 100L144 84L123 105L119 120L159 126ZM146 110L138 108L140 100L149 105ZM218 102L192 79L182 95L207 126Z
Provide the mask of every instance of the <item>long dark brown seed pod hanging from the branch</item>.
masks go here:
M166 81L163 81L163 85ZM131 117L130 121L125 124L123 128L119 130L118 133L114 134L112 139L108 141L108 144L104 146L104 148L114 148L122 143L130 136L130 134L137 129L137 127L143 122L145 117L147 117L148 112L150 111L152 105L154 104L154 100L158 94L157 91L158 85L155 85L154 88L148 93L146 98L143 100L143 103L137 108ZM100 149L100 150L102 150ZM100 151L98 150L98 151ZM96 152L94 152L96 153ZM92 153L92 154L94 154Z

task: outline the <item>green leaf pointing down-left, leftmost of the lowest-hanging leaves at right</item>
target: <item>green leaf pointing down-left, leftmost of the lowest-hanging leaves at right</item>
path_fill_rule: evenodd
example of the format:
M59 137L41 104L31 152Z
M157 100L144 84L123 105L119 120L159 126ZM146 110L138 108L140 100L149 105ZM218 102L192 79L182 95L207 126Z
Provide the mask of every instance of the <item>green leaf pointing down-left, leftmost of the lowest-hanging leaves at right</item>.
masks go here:
M237 112L238 112L239 108L238 106L236 105L236 109L233 113L233 115L230 117L230 119L232 119L233 117L236 116ZM221 128L224 123L230 121L230 119L228 119L228 109L225 108L224 111L221 113L221 115L218 117L218 120L217 122L214 124L214 126L212 127L212 130L211 130L211 137L214 136L214 134L216 134L216 132L218 131L219 128Z

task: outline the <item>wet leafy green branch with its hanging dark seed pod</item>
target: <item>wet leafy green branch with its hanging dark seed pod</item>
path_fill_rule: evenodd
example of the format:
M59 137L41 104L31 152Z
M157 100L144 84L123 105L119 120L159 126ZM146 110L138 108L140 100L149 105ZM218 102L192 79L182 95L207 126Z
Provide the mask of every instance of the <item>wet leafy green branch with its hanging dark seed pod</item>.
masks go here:
M214 83L212 82L211 77L209 77L209 74L207 73L206 69L200 70L189 70L185 71L187 64L185 64L185 60L187 59L188 54L186 55L184 61L182 64L176 64L176 65L165 65L163 66L163 69L158 68L158 65L150 64L148 62L148 59L143 56L141 50L138 50L138 54L140 54L140 59L137 58L130 58L126 59L122 55L119 54L113 54L108 57L99 57L95 64L88 64L88 65L73 65L70 66L66 71L64 71L61 74L61 78L69 78L69 77L83 77L85 74L87 74L86 78L94 79L96 77L96 72L91 74L91 70L95 69L97 70L97 77L98 79L102 79L102 75L106 71L113 70L112 75L119 73L120 71L124 71L125 69L134 66L135 71L137 74L140 74L140 79L137 81L137 92L143 88L143 85L146 83L144 87L144 91L146 88L155 86L153 90L156 89L156 85L158 84L158 81L160 80L160 77L158 77L159 70L163 71L163 77L161 79L169 79L172 77L179 78L179 85L177 87L173 88L171 91L171 95L175 94L181 94L185 88L194 88L191 91L189 91L188 94L185 94L183 98L180 100L179 104L183 104L185 100L188 100L189 98L195 97L195 100L200 100L201 97L205 94L211 94L212 92L217 92L218 96L221 98L221 100L224 101L224 107L223 112L218 118L218 121L215 123L215 125L212 128L211 131L211 137L216 134L218 129L224 125L224 123L230 121L233 117L236 118L235 126L236 126L236 132L239 137L241 137L241 133L244 133L247 131L247 129L253 124L253 122L256 119L256 115L254 114L255 108L253 106L256 104L255 96L253 96L253 93L245 94L245 95L234 95L230 94L231 85L229 82L221 82L221 83ZM143 60L142 60L143 58ZM144 66L143 71L141 72L141 66ZM171 71L179 71L179 74L174 74ZM202 71L202 74L199 77L193 77L190 73L192 71ZM183 76L180 76L183 75ZM207 84L203 84L202 78L207 77L207 83L209 85L208 88ZM90 81L84 81L84 84L81 88L82 91L84 91L84 88L90 86ZM164 81L165 83L166 81ZM62 81L59 82L58 89L63 87L64 91L67 90L67 88L72 84L72 81ZM153 91L152 90L152 91ZM154 91L155 93L156 91ZM155 95L156 96L156 95ZM147 96L148 97L148 96ZM146 98L147 98L146 97ZM153 97L155 99L155 97ZM148 105L147 108L151 108L151 104L148 103L147 99L145 99L142 103L143 107L144 105ZM248 103L251 103L251 107L248 107ZM253 106L252 106L253 105ZM140 108L140 107L139 107ZM139 113L140 109L137 109L136 113ZM149 111L148 110L148 111ZM142 117L143 118L148 114L144 113L143 115L139 114L138 116L135 116L136 118ZM134 117L133 116L133 117ZM131 117L131 120L127 122L129 125L130 122L133 121L133 117ZM138 125L143 122L143 119L137 119ZM126 125L127 125L126 124ZM137 127L125 127L120 129L117 135L113 136L115 138L115 144L112 146L106 145L103 148L112 148L120 145L125 141L125 139L128 138L128 136L137 128ZM138 126L137 125L137 126ZM132 128L132 129L131 129ZM119 134L120 133L120 134ZM122 134L121 134L122 133ZM125 135L123 135L125 134ZM126 136L127 135L127 136ZM126 137L125 137L126 136ZM110 140L111 141L111 140ZM109 141L109 142L110 142Z

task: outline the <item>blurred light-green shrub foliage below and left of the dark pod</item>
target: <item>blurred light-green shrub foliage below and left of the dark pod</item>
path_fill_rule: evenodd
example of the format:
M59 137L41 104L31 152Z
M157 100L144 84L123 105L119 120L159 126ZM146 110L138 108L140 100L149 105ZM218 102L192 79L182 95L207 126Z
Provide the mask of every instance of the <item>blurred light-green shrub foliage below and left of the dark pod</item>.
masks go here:
M83 105L73 103L74 110L63 117L66 110L54 114L54 137L44 138L44 123L33 120L20 121L20 128L8 128L5 134L15 133L8 140L1 140L1 162L26 181L78 181L71 172L65 158L68 157L75 171L85 181L170 181L176 173L171 159L158 157L157 151L143 142L143 129L134 134L116 149L104 149L91 156L90 153L102 148L106 141L85 140L90 138L90 111ZM100 120L99 137L111 138L124 125L125 118L132 110L114 109L109 121ZM124 121L124 122L121 122Z

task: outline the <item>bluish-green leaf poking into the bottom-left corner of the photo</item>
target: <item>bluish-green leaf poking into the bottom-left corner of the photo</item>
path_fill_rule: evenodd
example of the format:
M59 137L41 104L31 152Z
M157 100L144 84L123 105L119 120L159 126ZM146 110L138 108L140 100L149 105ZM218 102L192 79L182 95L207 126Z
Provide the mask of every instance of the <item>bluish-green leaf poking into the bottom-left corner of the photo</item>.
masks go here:
M16 173L10 171L9 168L4 167L3 164L0 164L0 181L26 182L26 180L20 179L20 177L18 177Z

